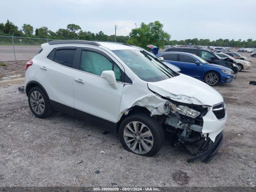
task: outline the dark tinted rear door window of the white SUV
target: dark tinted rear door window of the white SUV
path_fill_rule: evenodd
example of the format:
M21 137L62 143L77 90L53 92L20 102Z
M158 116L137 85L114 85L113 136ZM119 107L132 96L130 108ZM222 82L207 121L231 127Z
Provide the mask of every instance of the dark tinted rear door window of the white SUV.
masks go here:
M54 56L54 62L72 68L75 53L76 53L76 50L69 50L69 49L56 50L55 56Z

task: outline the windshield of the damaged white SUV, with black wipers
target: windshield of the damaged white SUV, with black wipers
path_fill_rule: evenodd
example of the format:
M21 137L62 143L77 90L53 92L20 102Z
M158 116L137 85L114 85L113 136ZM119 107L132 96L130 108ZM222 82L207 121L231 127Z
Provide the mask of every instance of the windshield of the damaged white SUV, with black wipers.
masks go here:
M144 81L157 82L177 76L176 72L144 50L126 49L113 52Z

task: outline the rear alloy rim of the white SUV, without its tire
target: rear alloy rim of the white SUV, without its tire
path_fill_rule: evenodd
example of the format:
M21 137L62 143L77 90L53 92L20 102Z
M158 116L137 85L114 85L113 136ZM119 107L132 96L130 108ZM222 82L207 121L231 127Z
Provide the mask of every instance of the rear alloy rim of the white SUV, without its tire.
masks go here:
M44 98L38 91L33 91L30 95L30 105L32 110L40 115L44 112Z

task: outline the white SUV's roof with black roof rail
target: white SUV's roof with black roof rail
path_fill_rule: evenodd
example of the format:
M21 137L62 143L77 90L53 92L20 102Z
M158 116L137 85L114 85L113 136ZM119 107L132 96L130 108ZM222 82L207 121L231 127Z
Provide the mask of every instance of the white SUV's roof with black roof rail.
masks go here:
M104 46L110 50L120 50L120 49L138 49L126 43L116 43L116 42L97 42L97 41L84 41L84 40L53 40L48 43L49 45L57 44L88 44L94 46Z

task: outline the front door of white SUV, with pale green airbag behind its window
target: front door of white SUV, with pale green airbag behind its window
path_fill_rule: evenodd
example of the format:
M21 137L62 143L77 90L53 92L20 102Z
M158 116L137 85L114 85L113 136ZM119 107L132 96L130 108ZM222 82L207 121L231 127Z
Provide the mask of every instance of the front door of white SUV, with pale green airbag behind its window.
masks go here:
M121 81L122 66L118 66L107 54L92 48L83 48L80 70L74 73L75 113L97 123L108 124L118 121L124 83ZM114 89L101 77L102 71L113 70L118 81Z

